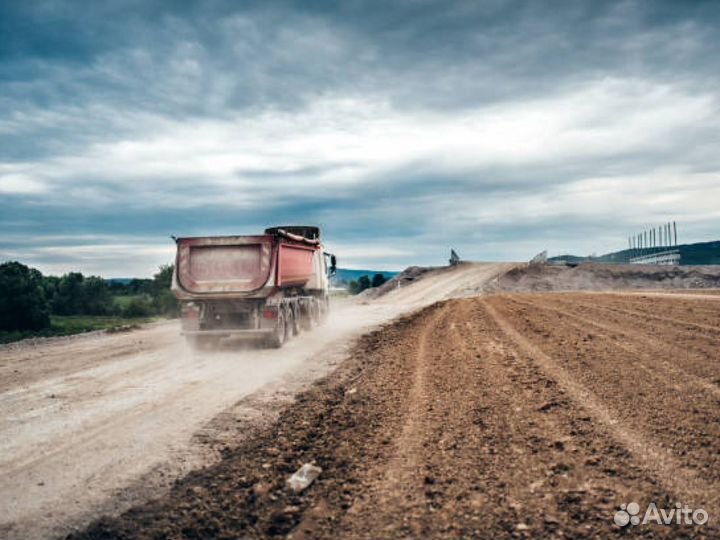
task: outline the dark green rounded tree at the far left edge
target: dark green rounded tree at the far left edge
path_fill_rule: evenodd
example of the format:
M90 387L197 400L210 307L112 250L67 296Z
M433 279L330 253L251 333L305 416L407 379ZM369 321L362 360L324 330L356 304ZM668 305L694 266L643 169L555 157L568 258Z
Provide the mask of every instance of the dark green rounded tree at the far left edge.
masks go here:
M19 262L0 264L0 330L50 326L42 274Z

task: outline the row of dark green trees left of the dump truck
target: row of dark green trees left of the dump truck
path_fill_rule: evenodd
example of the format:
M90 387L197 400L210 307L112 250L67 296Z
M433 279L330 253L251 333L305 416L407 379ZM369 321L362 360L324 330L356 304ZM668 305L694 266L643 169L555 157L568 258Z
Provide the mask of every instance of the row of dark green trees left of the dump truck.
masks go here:
M152 279L108 283L80 272L44 276L17 261L5 262L0 264L0 331L44 330L51 315L173 316L178 304L170 292L172 273L173 265L165 265ZM117 301L121 296L127 301Z

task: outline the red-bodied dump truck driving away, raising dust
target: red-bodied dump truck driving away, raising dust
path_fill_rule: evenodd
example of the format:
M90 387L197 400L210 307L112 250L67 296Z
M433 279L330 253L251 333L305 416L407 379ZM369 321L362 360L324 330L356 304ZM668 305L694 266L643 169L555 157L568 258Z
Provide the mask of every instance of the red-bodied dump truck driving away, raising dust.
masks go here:
M323 248L318 227L175 242L172 291L193 348L211 348L227 337L282 347L328 315L336 259Z

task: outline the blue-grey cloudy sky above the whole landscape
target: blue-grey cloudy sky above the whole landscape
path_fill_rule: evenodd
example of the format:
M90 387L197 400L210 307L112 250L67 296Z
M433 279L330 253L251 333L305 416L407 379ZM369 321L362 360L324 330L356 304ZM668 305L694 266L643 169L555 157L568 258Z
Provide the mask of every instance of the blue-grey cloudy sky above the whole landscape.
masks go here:
M5 0L0 260L147 276L170 234L286 223L377 269L717 239L719 33L714 1Z

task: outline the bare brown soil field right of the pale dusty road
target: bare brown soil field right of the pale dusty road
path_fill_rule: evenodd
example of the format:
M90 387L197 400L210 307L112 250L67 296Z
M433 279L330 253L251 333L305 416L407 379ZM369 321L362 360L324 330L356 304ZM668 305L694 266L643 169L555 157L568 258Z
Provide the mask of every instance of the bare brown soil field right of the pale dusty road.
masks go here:
M362 338L217 465L77 538L717 538L719 321L691 295L435 304ZM321 476L289 492L309 461ZM630 502L710 521L620 530Z

